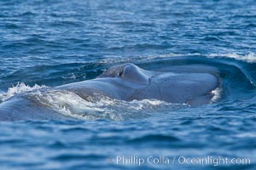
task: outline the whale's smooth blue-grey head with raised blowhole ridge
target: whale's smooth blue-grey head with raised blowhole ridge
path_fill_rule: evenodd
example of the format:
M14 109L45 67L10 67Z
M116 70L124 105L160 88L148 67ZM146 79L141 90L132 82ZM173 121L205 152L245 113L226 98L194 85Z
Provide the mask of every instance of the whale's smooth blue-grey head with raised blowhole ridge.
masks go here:
M218 77L207 72L146 71L130 63L113 66L97 78L114 85L125 100L160 99L202 105L211 101L212 90L218 88Z

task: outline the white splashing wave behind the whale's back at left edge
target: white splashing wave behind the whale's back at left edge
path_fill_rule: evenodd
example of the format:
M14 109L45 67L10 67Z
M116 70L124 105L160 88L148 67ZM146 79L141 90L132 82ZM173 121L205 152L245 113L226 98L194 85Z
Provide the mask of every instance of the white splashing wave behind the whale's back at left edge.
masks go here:
M16 94L31 92L33 90L40 89L40 88L47 88L47 86L44 86L44 85L39 86L38 84L35 84L34 86L30 87L26 85L24 82L18 82L16 86L9 88L6 93L0 94L0 101L3 102L4 100L9 99Z

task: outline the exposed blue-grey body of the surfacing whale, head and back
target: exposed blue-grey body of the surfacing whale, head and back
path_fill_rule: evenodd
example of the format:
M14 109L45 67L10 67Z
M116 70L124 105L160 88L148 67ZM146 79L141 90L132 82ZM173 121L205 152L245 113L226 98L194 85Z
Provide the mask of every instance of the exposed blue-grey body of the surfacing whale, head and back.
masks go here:
M112 99L160 99L170 103L204 105L211 102L218 77L209 73L145 71L125 64L109 68L96 79L42 90L66 90L83 99L108 96ZM0 104L0 120L67 119L45 105L20 94Z

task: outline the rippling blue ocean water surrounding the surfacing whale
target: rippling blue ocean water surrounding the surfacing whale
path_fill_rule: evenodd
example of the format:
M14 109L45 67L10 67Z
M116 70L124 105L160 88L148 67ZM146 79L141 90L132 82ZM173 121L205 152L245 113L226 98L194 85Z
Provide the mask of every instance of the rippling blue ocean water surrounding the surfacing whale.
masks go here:
M0 122L1 169L256 168L254 0L1 0L0 58L1 102L127 62L221 78L197 107L50 94L77 121Z

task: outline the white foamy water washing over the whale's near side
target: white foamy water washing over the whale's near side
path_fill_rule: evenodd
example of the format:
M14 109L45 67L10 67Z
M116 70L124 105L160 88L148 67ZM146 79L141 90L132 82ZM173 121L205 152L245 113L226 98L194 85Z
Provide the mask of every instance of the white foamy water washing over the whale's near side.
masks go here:
M131 118L148 116L154 112L172 111L183 105L173 105L156 99L123 101L99 97L82 99L69 91L49 91L32 93L33 98L43 105L67 116L82 120L110 119L123 121Z

